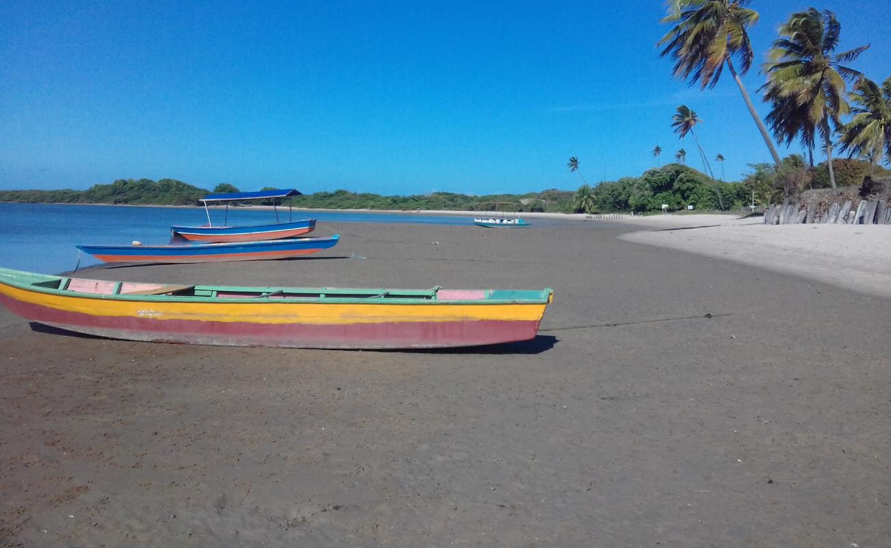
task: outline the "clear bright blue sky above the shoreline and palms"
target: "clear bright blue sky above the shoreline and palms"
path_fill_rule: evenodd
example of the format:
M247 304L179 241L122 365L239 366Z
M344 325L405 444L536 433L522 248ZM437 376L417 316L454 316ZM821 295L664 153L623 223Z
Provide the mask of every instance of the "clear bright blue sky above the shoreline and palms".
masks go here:
M752 2L759 63L808 5ZM838 13L841 48L871 43L855 68L891 76L891 2L816 5ZM729 75L704 93L671 78L663 14L657 1L4 2L0 188L574 189L572 155L597 181L640 175L657 144L663 162L692 151L669 127L681 103L739 177L769 159L764 143ZM763 79L749 73L753 94Z

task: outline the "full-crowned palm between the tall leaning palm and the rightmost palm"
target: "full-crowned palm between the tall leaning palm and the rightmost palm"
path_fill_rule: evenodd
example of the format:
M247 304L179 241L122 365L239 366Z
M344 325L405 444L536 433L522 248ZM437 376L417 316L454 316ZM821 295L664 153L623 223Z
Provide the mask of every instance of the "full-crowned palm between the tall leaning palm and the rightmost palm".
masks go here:
M773 103L771 116L774 135L789 139L800 134L806 144L820 134L830 170L830 184L836 187L832 168L832 128L841 126L841 117L850 110L845 101L845 80L862 74L841 63L854 61L869 45L844 53L833 53L841 34L835 13L808 8L795 12L780 28L773 42L771 61L764 63L767 73L764 99Z

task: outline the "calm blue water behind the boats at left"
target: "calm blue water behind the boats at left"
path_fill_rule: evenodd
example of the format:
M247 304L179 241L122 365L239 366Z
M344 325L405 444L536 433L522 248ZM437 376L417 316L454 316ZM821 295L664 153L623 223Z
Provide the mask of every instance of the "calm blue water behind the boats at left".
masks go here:
M211 209L210 215L215 224L222 224L222 209ZM279 216L280 220L287 220L288 210L280 210ZM472 217L294 211L294 220L308 217L315 218L320 225L333 222L473 224ZM229 225L257 225L274 220L271 210L229 209ZM535 224L547 225L562 222L535 220ZM146 245L164 244L170 240L170 225L206 223L203 208L0 203L0 266L45 274L61 273L73 270L78 264L76 244L127 245L134 240ZM98 264L86 254L81 254L79 260L81 267Z

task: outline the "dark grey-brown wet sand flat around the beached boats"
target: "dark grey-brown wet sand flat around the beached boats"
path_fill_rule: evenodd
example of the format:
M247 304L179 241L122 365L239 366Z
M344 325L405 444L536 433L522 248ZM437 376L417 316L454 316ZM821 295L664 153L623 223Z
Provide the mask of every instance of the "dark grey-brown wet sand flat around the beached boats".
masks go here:
M0 545L891 544L891 301L692 249L762 229L642 222L320 225L342 239L315 259L84 273L552 287L540 336L498 348L175 346L0 311Z

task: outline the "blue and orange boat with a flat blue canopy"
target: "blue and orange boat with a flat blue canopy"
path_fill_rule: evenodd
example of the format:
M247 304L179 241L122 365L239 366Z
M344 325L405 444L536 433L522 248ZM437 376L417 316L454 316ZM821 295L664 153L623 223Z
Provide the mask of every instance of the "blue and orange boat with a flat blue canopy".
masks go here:
M210 194L200 201L204 203L204 212L208 216L208 224L205 226L171 226L170 235L173 241L203 241L203 242L219 242L219 241L259 241L259 240L278 240L280 238L294 238L303 234L311 233L315 229L315 219L302 219L298 221L291 220L291 211L289 204L288 222L280 223L278 208L275 200L290 198L291 196L299 196L301 192L291 188L272 191L259 192L228 192L223 194ZM275 212L274 225L249 225L249 226L227 226L229 220L229 204L236 201L245 200L273 200L273 210ZM210 210L208 203L225 203L225 218L223 225L214 226L210 220Z

